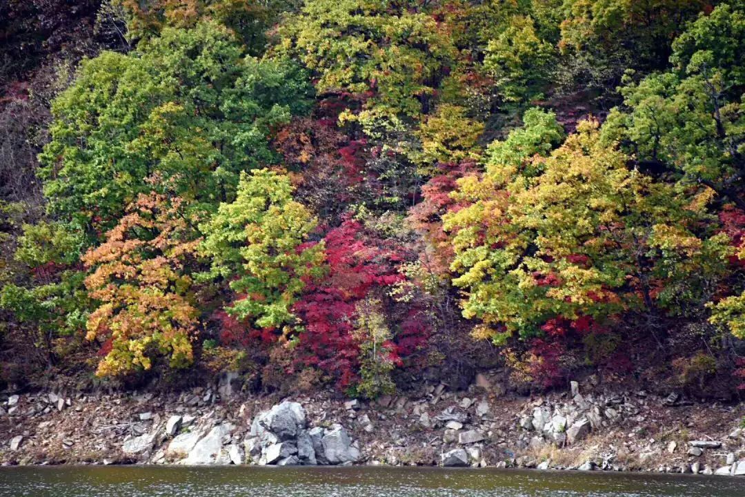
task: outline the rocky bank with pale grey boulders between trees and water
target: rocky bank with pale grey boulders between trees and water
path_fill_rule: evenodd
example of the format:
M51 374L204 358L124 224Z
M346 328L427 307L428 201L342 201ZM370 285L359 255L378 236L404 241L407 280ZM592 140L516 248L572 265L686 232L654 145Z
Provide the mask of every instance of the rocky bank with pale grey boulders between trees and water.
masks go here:
M180 393L0 396L0 461L13 464L493 466L745 475L743 404L677 393L506 394L423 385L375 402L248 396L228 376Z

